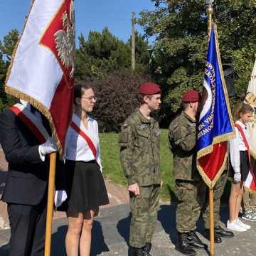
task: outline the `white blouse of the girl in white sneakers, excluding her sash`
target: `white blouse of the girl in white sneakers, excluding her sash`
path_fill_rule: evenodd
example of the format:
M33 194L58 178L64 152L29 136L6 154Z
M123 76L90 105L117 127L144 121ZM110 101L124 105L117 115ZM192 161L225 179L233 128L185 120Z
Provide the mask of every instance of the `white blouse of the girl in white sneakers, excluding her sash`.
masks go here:
M239 124L242 127L242 131L245 133L247 142L249 143L249 133L245 124L240 121L236 121L236 124ZM247 151L245 143L243 142L242 135L238 131L238 128L235 127L235 138L230 139L230 161L235 173L240 173L240 151Z

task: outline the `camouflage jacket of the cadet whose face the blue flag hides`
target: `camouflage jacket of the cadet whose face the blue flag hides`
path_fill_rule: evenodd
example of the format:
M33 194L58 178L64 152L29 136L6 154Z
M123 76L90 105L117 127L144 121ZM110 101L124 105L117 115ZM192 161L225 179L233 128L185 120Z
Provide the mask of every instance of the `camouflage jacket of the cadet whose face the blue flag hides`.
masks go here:
M185 112L171 122L169 146L174 155L174 178L198 181L196 169L196 120Z

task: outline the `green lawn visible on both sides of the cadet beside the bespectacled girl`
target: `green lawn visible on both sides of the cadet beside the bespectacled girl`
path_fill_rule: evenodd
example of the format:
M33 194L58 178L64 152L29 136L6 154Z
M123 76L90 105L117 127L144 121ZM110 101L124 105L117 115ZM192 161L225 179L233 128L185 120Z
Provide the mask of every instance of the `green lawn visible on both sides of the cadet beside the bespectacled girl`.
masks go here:
M168 130L161 129L161 176L164 186L161 189L161 199L164 201L175 200L174 196L174 172L171 151L168 147ZM122 167L119 161L119 134L100 134L100 149L103 166L103 175L112 181L127 186Z

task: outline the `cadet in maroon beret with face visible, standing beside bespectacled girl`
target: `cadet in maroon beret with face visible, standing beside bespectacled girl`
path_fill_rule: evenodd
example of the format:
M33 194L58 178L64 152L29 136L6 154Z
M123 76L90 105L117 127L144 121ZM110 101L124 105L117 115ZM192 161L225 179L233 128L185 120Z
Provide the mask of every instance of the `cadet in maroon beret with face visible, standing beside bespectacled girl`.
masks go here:
M129 246L134 255L150 255L156 223L161 186L160 130L150 114L159 109L160 93L154 83L141 85L142 105L125 120L119 134L120 160L128 181L132 213Z

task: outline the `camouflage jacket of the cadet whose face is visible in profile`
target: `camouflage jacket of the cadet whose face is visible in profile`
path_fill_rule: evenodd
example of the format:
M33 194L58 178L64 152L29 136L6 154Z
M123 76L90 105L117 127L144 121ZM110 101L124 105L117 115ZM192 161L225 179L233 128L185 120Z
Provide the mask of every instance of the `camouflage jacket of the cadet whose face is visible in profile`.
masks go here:
M159 184L160 129L154 118L146 119L137 110L122 125L119 134L120 160L128 184Z

